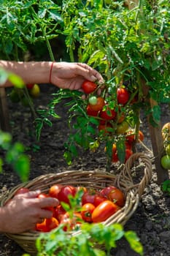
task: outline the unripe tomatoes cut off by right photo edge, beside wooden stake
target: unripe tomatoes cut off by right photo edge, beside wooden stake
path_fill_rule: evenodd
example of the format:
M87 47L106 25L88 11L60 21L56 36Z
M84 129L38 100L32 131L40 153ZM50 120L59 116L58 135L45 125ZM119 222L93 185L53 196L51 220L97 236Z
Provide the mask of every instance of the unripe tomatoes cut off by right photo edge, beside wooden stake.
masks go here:
M162 137L166 154L161 157L161 165L164 169L170 170L170 123L163 125Z

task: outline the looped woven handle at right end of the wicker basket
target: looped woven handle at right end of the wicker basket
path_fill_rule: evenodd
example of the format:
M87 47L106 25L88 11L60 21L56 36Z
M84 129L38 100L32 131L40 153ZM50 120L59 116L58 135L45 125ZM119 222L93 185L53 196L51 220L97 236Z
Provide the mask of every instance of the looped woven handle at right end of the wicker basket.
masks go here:
M134 162L136 160L141 161L141 163L144 164L144 176L138 184L134 184L133 178L131 176L131 167L134 166ZM129 159L125 162L125 166L120 173L120 179L122 177L125 182L129 183L130 180L131 184L134 184L133 186L129 184L126 192L128 192L129 189L134 188L136 190L135 193L138 193L139 197L141 197L144 192L144 187L146 187L146 185L150 182L150 179L152 178L152 162L150 161L150 158L147 157L144 153L135 153L131 155L131 157L129 157Z

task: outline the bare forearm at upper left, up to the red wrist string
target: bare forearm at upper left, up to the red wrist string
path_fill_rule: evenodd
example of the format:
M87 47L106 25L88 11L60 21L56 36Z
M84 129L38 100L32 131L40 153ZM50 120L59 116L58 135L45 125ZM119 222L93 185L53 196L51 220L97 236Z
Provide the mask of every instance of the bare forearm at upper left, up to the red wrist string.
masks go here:
M26 83L49 83L50 61L0 61L0 67L19 75ZM4 86L12 86L7 81Z

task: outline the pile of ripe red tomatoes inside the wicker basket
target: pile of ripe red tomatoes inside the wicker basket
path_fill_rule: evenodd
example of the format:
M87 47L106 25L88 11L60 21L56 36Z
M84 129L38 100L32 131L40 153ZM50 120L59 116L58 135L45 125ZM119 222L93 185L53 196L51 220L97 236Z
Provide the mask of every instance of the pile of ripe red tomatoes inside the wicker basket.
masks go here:
M80 189L82 190L80 206L70 215L63 208L62 202L70 205L69 195L75 197ZM28 188L21 188L17 193L28 191ZM59 200L58 206L45 208L46 210L53 211L53 217L36 224L36 230L39 232L49 232L55 227L58 227L58 225L63 225L62 228L64 231L72 231L79 229L83 222L104 222L125 204L123 192L114 186L97 190L86 187L74 187L72 185L54 184L48 192L41 193L38 197L55 197Z

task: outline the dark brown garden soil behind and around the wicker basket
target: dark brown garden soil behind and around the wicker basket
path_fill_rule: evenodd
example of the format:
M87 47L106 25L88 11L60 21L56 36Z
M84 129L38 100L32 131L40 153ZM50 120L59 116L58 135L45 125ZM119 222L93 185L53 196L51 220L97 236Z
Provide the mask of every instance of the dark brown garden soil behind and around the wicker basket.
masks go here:
M50 102L51 94L56 90L54 86L42 85L41 95L36 99L36 108L42 108ZM103 151L95 154L80 151L77 159L68 166L63 159L63 143L69 135L66 111L59 105L57 113L60 119L53 120L53 127L44 127L40 142L34 138L34 127L31 113L28 108L9 101L9 114L12 125L12 136L16 141L22 142L28 148L31 159L30 180L45 173L62 172L64 170L104 170L106 159ZM162 123L169 121L170 113L167 105L162 106ZM139 146L139 151L144 151L152 160L152 145L148 132L147 121L142 118L142 132L144 132L144 145ZM39 150L35 150L39 146ZM88 157L87 157L88 156ZM20 184L20 179L7 165L4 173L0 174L1 195L9 192L12 187ZM155 165L152 162L152 180L144 190L142 199L135 213L125 224L125 230L134 230L144 246L144 256L170 256L170 197L163 194L157 184ZM0 235L0 255L20 256L23 249L9 240L4 234ZM112 255L136 256L124 239L117 242L117 248L112 249Z

